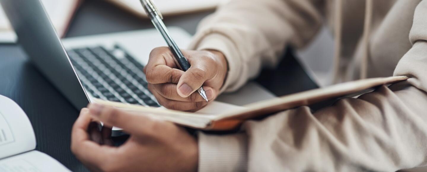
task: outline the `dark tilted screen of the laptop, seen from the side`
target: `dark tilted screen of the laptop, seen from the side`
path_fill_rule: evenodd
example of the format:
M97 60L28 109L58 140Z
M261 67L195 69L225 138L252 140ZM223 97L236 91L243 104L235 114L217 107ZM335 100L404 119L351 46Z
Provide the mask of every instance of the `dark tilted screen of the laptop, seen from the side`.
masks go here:
M89 99L40 0L0 0L32 63L77 108Z

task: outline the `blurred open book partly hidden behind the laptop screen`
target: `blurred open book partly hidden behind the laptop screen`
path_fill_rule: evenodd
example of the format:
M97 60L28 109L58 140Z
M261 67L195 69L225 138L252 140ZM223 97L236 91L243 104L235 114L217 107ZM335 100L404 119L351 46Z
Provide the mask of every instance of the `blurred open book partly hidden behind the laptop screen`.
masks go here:
M65 36L68 25L79 5L79 0L41 0L60 37ZM0 10L0 42L16 42L16 35L3 9Z

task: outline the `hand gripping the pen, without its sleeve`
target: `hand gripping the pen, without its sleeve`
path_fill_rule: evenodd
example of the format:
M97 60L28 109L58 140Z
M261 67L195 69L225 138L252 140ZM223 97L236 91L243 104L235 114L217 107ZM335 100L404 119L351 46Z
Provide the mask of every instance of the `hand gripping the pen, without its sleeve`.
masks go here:
M152 50L144 68L148 89L166 108L196 111L208 104L197 90L203 85L208 100L218 96L227 74L227 61L218 51L182 53L191 64L186 72L179 70L175 57L167 47Z

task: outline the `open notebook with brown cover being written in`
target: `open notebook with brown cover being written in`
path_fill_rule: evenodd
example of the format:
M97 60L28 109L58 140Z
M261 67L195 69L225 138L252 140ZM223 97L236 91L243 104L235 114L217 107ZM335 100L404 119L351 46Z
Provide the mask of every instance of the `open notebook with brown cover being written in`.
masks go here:
M229 131L238 128L245 120L265 117L280 111L313 105L325 100L361 95L372 91L374 87L390 85L407 79L406 76L363 79L255 102L243 107L212 102L205 109L196 113L110 102L102 99L95 99L94 102L199 130Z

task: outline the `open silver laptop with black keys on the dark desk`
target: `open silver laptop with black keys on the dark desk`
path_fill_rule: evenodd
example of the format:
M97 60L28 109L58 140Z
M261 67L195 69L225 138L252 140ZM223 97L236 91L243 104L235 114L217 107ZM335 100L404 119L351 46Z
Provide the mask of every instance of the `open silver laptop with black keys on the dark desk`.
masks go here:
M40 0L0 2L32 63L76 108L94 98L160 107L143 73L149 52L165 45L155 29L61 41ZM181 47L191 38L179 28L170 34Z

